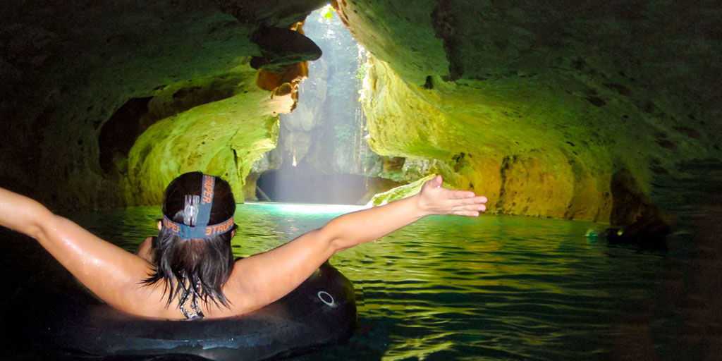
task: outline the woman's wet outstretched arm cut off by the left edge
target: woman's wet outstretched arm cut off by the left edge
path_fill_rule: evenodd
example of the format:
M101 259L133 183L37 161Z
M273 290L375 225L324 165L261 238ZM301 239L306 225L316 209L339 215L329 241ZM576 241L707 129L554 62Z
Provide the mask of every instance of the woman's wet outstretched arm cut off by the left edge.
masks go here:
M134 308L138 307L135 301L147 297L147 290L137 284L147 276L147 261L97 238L37 201L3 188L0 225L38 240L71 274L114 308L144 314Z

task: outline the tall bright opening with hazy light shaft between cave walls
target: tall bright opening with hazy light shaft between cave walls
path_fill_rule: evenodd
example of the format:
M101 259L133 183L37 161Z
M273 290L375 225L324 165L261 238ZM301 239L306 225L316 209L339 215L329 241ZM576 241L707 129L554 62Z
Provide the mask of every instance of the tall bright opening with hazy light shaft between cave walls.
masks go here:
M281 116L277 148L264 155L271 170L257 181L259 200L362 204L368 175L378 174L380 157L368 148L359 90L365 51L329 6L308 16L305 35L323 51L308 64L298 104Z

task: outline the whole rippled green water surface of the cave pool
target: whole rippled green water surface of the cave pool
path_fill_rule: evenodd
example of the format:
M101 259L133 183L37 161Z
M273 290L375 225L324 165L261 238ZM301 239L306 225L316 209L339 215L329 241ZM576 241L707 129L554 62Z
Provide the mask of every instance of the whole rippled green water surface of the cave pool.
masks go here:
M349 344L299 360L714 360L719 169L658 185L660 204L679 214L667 252L588 240L605 227L591 222L487 215L427 217L339 253L331 264L355 284L360 327ZM234 252L266 251L355 209L239 205ZM159 214L71 218L133 251Z

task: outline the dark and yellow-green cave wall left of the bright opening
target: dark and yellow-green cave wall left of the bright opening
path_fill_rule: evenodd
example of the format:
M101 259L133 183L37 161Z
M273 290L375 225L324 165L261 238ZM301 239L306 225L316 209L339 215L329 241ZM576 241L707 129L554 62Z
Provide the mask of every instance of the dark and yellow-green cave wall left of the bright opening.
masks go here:
M292 94L270 101L256 86L250 64L266 52L253 35L322 4L282 3L3 1L0 185L53 209L157 202L162 183L186 170L229 173L242 188L253 160L217 164L272 148L277 117L292 107ZM303 66L261 81L274 90L300 77Z

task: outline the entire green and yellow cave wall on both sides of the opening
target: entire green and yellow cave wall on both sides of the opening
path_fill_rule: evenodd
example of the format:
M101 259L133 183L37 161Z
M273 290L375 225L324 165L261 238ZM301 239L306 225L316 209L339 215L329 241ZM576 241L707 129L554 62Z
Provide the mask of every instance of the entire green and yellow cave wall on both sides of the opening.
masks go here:
M493 212L628 223L655 175L721 157L716 1L334 4L370 53L369 144L394 181L438 172ZM204 170L248 195L314 56L266 35L322 5L4 1L0 185L124 206Z

